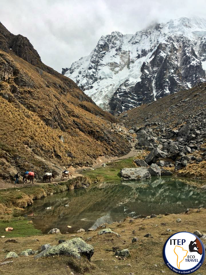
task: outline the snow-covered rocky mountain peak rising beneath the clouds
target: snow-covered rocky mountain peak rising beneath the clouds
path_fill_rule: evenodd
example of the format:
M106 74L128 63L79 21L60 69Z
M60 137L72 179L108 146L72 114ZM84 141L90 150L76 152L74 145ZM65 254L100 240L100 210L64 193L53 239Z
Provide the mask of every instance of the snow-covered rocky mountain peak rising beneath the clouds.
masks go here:
M113 114L205 81L206 19L181 17L136 34L102 36L62 73Z

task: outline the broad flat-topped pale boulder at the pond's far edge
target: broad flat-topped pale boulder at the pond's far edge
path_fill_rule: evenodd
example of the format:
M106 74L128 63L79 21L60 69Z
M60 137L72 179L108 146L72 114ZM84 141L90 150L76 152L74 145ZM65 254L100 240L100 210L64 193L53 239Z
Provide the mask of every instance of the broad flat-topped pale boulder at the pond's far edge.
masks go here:
M150 179L151 175L146 168L123 168L121 170L122 178L125 180L145 180Z

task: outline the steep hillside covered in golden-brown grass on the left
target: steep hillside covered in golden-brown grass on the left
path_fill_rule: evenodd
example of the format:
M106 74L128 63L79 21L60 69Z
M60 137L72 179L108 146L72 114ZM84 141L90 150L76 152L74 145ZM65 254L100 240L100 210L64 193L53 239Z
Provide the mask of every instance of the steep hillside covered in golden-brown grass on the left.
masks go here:
M49 73L27 38L2 25L0 32L0 184L17 170L33 169L39 178L129 152L123 133L112 130L117 120L111 114L71 79Z

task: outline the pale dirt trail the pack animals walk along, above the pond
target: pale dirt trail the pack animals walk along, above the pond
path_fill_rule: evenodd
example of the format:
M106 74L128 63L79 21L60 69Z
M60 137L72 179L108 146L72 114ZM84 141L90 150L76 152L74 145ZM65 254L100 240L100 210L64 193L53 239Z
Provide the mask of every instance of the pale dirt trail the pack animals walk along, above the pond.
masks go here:
M98 167L100 167L103 163L105 162L112 162L112 161L116 161L116 160L122 160L122 159L125 159L125 158L130 158L130 157L133 157L133 156L136 156L137 153L139 152L139 150L136 150L134 148L134 145L135 145L135 142L132 142L131 143L131 150L128 154L124 155L124 156L121 156L121 157L109 157L109 158L106 158L104 156L100 156L98 157L98 159L94 160L94 164L90 167L86 167L86 166L83 166L83 167L78 167L78 168L69 168L69 171L72 172L72 178L76 178L78 176L82 176L81 174L81 171L82 169L90 169L90 168L93 168L93 169L96 169ZM37 158L39 158L41 161L44 161L44 162L47 162L47 165L51 167L51 169L55 169L58 173L59 173L59 176L55 179L52 179L51 182L60 182L60 178L61 178L61 173L62 173L62 170L64 170L63 167L61 166L57 166L47 160L44 160L43 158L39 157L36 155ZM20 177L20 181L22 181L22 178ZM42 181L34 181L34 184L37 185L37 184L43 184ZM25 186L32 186L33 184L17 184L17 185L14 185L14 183L8 183L6 181L1 181L0 182L0 189L5 189L5 188L21 188L21 187L25 187Z

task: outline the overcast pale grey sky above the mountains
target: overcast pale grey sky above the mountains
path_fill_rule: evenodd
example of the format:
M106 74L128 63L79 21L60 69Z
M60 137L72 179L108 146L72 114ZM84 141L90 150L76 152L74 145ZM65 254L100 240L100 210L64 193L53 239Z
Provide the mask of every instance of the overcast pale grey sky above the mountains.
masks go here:
M206 17L205 10L205 0L0 0L0 21L61 72L90 54L102 35L134 34L152 21Z

